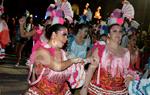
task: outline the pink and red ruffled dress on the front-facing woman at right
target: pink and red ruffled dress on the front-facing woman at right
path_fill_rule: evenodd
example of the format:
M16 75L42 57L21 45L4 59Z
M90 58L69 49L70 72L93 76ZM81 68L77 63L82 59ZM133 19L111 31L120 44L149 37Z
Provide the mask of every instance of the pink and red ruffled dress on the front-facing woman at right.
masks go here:
M94 45L93 50L96 48L100 63L88 88L90 95L128 95L124 79L128 75L136 75L135 72L128 69L129 51L126 49L124 55L118 57L113 55L107 46L98 42Z

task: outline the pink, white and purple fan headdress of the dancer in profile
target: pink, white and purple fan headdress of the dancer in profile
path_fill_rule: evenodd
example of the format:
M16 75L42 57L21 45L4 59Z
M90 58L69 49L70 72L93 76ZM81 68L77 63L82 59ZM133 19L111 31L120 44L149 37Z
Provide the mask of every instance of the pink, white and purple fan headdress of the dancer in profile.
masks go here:
M65 19L69 23L73 22L73 11L71 4L68 0L55 0L55 4L50 4L47 8L45 19L50 16L52 18L52 24L63 24Z

